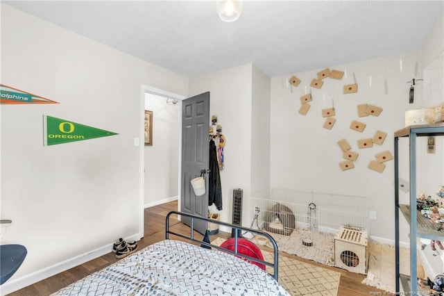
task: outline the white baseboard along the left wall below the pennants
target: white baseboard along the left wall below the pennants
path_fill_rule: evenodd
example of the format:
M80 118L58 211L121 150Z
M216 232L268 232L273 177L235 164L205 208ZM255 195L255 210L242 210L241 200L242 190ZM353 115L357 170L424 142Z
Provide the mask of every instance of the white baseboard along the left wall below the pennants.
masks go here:
M142 236L143 235L141 235L140 233L137 233L137 234L134 234L133 236L130 236L125 239L126 240L140 240L140 238ZM108 254L111 251L112 251L112 247L110 246L110 244L107 244L103 247L93 249L92 251L87 252L85 254L80 254L76 257L69 258L65 261L48 266L47 268L43 268L42 270L37 270L36 272L33 272L31 274L27 274L24 277L19 277L17 279L12 277L12 279L9 279L8 281L6 281L6 283L3 283L0 286L0 295L10 294L10 293L15 292L17 290L20 290L22 288L30 286L33 283L37 283L38 281L42 281L44 279L52 277L53 275L59 274L60 272L64 272L64 271L69 270L71 268L75 268L78 265L81 265L81 264L91 261L95 258L98 258L100 256Z

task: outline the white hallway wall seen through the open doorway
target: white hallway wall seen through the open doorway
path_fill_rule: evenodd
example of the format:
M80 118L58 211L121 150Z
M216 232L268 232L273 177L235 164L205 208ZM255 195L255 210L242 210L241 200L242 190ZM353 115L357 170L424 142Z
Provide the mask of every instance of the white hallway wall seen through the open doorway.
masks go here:
M146 93L145 110L153 111L153 146L145 146L145 207L178 197L179 111L167 98Z

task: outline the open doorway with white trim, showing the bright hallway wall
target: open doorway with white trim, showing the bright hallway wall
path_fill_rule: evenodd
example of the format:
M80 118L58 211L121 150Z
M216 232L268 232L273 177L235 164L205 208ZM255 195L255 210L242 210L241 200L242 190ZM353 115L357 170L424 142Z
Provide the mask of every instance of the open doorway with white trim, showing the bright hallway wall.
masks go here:
M180 129L182 99L179 94L142 85L139 145L139 233L144 236L144 209L178 198L180 182ZM152 142L145 145L145 110L153 111ZM176 118L174 118L176 117ZM176 125L176 131L172 131ZM136 144L137 143L137 144ZM168 157L167 164L165 159ZM164 160L162 162L162 159ZM171 175L176 180L171 179ZM146 185L152 184L148 188ZM174 185L171 185L174 184ZM175 187L175 188L174 188ZM180 201L179 201L180 206Z

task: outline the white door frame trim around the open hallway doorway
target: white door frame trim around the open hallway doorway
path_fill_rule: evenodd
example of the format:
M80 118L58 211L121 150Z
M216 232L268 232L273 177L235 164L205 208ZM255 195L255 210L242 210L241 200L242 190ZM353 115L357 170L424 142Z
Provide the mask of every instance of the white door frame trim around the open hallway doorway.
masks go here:
M182 108L182 100L187 99L187 97L182 96L180 94L175 94L173 92L168 92L167 90L161 90L159 88L154 88L149 85L141 85L140 88L140 108L139 108L139 138L135 138L135 146L139 145L139 236L140 238L144 237L144 211L145 211L145 178L144 178L144 169L145 169L145 145L144 145L144 137L145 137L145 94L155 94L159 97L176 99L179 102L180 108ZM182 112L179 112L178 118L178 129L182 131ZM178 148L179 148L179 157L178 157L178 167L180 167L182 163L182 133L179 133L178 138ZM180 186L180 174L178 174L178 209L180 209L180 190L182 190Z

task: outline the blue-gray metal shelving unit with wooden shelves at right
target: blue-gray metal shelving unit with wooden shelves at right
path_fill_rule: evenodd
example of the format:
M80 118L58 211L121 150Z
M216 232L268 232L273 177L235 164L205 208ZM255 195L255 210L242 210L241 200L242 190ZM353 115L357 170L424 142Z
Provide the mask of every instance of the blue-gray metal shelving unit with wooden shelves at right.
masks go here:
M441 240L444 233L436 231L434 226L422 215L418 215L416 210L416 140L418 137L430 135L444 135L444 124L407 126L395 132L395 279L396 295L400 295L400 281L406 277L400 274L400 224L399 213L401 212L410 225L410 279L418 277L417 265L417 238L429 238L431 240ZM399 184L399 139L409 138L409 172L410 172L410 201L409 204L400 204L400 184ZM441 185L441 184L440 184ZM404 285L404 289L405 286ZM410 290L404 293L418 295L416 280L409 281Z

